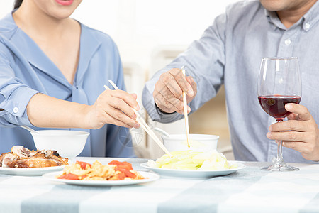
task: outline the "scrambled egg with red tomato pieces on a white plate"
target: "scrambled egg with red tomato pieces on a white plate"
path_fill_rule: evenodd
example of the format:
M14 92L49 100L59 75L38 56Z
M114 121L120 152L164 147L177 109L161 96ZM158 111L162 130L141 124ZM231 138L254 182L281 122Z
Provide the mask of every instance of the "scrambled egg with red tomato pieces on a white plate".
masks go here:
M132 164L113 160L107 165L99 161L92 164L77 161L67 165L59 179L69 180L140 180L145 179L140 173L133 170Z

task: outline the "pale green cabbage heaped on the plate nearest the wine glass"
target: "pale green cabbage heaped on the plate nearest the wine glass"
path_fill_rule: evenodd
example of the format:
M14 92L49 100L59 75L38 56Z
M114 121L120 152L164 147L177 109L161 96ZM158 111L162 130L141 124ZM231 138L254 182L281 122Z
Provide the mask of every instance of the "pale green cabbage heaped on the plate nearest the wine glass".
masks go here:
M237 168L237 164L230 165L223 153L217 151L174 151L172 157L165 154L156 161L148 160L152 168L168 168L177 170L225 170Z

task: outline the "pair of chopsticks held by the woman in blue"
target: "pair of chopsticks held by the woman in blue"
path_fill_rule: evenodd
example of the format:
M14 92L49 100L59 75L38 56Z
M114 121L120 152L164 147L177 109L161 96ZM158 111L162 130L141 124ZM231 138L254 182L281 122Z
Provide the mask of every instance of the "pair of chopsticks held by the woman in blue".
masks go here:
M114 87L114 89L118 89L118 87L116 86L116 84L114 84L114 82L112 80L108 80L108 82L110 82L110 84ZM108 86L104 85L105 89L111 90L110 88L108 88ZM157 143L157 145L162 148L162 150L167 153L167 155L169 155L169 157L172 157L172 154L169 153L169 151L167 150L167 148L163 145L163 143L159 140L159 138L157 138L157 136L155 135L154 131L152 131L152 129L150 129L150 126L148 126L148 124L145 122L144 119L142 119L142 117L140 116L140 114L138 114L138 111L136 111L134 108L132 108L133 111L135 112L136 115L136 121L138 121L138 124L140 124L140 126L142 127L142 129L144 129L144 131L146 131L150 137L155 141L155 143Z

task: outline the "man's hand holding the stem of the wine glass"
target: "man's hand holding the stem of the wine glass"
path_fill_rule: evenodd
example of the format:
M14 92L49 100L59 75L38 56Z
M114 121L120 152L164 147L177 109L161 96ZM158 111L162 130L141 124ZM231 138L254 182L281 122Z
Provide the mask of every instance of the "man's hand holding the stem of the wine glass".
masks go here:
M283 146L299 151L307 160L319 160L319 129L308 109L299 104L286 104L292 114L288 121L269 126L267 138L282 140Z

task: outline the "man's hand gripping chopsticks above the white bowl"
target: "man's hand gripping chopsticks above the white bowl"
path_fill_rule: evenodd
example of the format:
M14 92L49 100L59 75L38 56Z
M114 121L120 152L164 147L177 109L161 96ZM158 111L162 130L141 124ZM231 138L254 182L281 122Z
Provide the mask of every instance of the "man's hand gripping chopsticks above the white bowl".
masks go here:
M186 92L187 103L194 99L197 85L193 77L184 77L180 69L174 68L164 72L155 84L153 97L157 107L164 112L172 113L177 111L184 114L183 91ZM191 108L188 107L188 112Z

